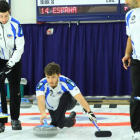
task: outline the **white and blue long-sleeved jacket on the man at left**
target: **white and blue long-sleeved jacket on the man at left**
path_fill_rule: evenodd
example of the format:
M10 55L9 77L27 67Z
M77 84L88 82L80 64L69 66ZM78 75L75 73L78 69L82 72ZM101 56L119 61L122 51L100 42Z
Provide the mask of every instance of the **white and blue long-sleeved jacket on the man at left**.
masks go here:
M19 21L9 16L6 24L0 23L0 59L9 60L10 66L19 62L24 51L24 44Z

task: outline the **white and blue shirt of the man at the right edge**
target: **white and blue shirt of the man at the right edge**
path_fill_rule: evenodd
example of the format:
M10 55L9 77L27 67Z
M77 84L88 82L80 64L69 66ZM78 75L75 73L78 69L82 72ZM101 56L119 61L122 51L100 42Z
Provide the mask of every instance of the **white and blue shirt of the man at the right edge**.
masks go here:
M127 12L126 34L131 37L133 47L132 58L140 60L140 8Z

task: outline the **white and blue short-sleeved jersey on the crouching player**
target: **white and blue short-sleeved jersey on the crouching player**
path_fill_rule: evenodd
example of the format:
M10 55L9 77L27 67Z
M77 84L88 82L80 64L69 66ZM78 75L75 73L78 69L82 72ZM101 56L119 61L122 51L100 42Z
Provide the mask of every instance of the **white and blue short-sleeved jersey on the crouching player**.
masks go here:
M79 88L69 78L60 75L58 85L52 88L47 79L43 78L36 86L36 96L44 95L46 100L46 107L50 110L56 110L59 105L59 100L63 94L69 92L73 97L80 93Z

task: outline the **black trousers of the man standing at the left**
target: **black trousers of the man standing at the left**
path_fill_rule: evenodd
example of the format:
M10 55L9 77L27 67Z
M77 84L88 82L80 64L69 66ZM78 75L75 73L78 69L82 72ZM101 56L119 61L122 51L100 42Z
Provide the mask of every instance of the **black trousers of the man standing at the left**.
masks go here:
M7 60L0 59L0 71L6 66ZM1 77L0 77L1 78ZM20 114L20 79L21 79L21 61L17 62L12 71L8 75L9 89L10 89L10 114L12 120L18 120ZM7 112L6 92L5 92L5 80L0 79L1 90L1 106L2 112ZM0 119L0 122L7 123L7 118Z

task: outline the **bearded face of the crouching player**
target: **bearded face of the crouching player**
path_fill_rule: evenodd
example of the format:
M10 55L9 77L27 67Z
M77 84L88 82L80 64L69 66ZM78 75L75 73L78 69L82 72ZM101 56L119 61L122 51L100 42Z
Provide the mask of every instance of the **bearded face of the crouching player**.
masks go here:
M57 86L57 84L58 84L58 78L59 78L59 76L60 76L60 74L59 75L53 74L51 76L46 75L48 84L51 87L55 88Z

